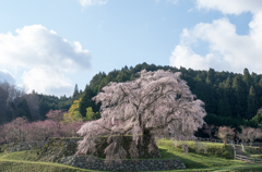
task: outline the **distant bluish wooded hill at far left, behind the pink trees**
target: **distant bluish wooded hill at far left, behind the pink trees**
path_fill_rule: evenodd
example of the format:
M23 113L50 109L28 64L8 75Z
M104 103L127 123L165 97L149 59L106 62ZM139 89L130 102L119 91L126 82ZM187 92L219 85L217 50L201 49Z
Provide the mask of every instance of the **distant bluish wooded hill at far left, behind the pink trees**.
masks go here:
M78 85L75 85L78 88ZM28 121L45 120L49 110L69 110L73 100L80 99L82 90L74 90L73 97L48 96L37 94L33 90L25 94L25 90L9 83L0 83L0 124L25 116Z

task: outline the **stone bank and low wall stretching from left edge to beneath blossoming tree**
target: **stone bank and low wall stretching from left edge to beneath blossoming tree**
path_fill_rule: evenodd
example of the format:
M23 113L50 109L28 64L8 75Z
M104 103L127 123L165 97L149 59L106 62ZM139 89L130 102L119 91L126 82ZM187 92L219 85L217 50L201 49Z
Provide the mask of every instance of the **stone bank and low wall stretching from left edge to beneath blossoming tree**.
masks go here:
M39 159L72 167L103 170L103 171L163 171L186 169L180 159L140 159L122 160L121 164L116 161L106 164L105 160L98 158L87 159L87 156L73 156L78 140L83 138L51 138L48 142L29 142L8 144L2 147L4 152L14 152L29 149L41 149Z

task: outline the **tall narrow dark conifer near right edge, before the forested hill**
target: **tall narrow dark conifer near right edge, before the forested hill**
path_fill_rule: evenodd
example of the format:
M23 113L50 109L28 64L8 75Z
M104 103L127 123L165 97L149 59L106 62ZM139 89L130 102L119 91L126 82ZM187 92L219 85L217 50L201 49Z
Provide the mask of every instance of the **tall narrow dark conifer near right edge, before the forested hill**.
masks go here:
M259 109L257 94L253 86L250 87L249 96L248 96L248 111L247 111L247 119L251 119L255 115Z

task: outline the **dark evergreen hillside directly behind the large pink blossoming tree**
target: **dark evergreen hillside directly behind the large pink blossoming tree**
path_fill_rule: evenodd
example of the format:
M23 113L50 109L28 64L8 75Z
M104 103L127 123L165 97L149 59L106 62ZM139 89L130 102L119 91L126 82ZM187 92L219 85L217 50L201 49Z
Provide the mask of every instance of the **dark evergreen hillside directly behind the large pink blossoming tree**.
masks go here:
M262 107L262 75L243 69L243 74L209 71L194 71L184 67L156 66L154 64L138 64L134 67L124 66L121 70L114 70L96 74L83 91L80 101L80 112L86 114L86 108L92 107L94 111L99 110L99 105L92 101L104 86L110 82L126 82L133 79L136 72L170 70L181 72L181 77L188 82L191 91L198 99L205 102L207 124L221 125L248 125L257 127L261 122L258 109Z

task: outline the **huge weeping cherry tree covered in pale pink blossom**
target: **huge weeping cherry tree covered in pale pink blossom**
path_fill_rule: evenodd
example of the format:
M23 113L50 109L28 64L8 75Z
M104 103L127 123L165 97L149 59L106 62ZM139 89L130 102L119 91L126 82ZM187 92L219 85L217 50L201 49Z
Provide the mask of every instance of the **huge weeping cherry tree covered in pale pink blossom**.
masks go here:
M171 135L192 136L204 123L206 115L204 103L195 99L181 73L158 70L141 71L140 77L126 83L109 83L93 100L102 102L102 119L84 124L78 132L84 139L79 143L78 153L92 155L96 151L95 139L108 135L106 159L124 159L127 151L122 147L122 137L112 135L132 134L133 142L129 150L138 158L139 134L141 143L150 136L148 152L153 149L154 131L164 131ZM115 122L120 122L115 124Z

